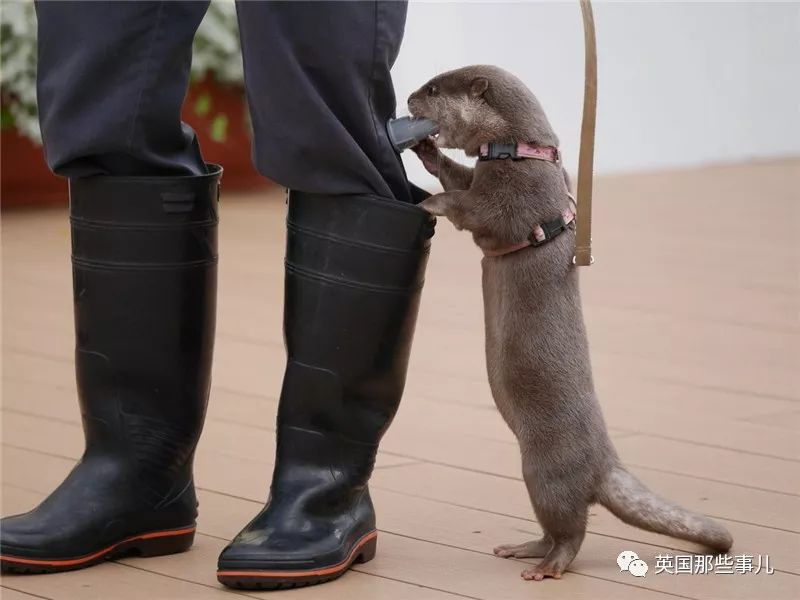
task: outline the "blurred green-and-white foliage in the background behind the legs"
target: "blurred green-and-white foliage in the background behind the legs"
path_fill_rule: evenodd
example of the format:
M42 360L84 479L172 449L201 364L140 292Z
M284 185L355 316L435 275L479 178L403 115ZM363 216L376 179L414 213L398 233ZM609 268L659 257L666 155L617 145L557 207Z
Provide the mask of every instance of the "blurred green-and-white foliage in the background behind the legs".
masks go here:
M36 13L32 0L0 2L0 65L0 126L16 128L41 143L36 108ZM233 0L212 1L195 36L191 80L208 77L237 86L244 81ZM211 116L211 138L225 140L228 117L214 113L210 95L201 94L192 110L198 116Z

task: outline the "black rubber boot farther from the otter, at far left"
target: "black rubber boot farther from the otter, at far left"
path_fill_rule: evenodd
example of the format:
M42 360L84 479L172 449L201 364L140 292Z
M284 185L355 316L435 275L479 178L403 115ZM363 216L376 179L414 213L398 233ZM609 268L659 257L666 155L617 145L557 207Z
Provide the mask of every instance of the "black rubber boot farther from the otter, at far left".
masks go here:
M221 169L70 182L81 461L0 524L2 570L188 549L211 374Z

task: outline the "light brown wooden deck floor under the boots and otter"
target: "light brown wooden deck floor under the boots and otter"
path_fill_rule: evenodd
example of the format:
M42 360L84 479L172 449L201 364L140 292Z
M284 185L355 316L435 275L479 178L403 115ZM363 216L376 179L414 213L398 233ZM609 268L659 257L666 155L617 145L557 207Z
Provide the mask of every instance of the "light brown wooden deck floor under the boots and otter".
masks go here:
M524 582L497 543L539 532L517 447L484 376L479 257L442 223L408 377L372 489L378 557L297 600L800 597L800 162L603 178L597 263L582 272L615 443L655 490L721 519L775 572L655 574L691 544L592 511L561 581ZM234 592L218 552L267 493L283 369L284 206L224 199L214 389L197 456L200 535L186 554L3 578L3 598L192 599ZM82 450L64 210L3 215L2 510L27 510ZM645 578L620 572L637 552ZM240 596L259 596L236 593Z

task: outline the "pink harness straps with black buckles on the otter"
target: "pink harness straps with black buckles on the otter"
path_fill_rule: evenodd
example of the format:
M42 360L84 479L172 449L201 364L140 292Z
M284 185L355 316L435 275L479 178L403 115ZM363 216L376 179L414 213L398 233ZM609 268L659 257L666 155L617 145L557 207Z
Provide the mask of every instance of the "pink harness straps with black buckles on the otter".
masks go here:
M558 148L554 146L533 146L526 142L518 142L516 144L483 144L480 148L480 154L478 155L478 160L480 161L522 160L525 158L533 158L559 164L561 162L561 153ZM575 207L576 204L573 195L567 191L567 196L572 206ZM504 256L531 246L541 246L555 239L559 234L566 231L567 228L574 226L574 223L574 208L565 209L561 211L561 215L558 218L534 225L533 231L528 239L497 250L483 250L483 255L489 257Z

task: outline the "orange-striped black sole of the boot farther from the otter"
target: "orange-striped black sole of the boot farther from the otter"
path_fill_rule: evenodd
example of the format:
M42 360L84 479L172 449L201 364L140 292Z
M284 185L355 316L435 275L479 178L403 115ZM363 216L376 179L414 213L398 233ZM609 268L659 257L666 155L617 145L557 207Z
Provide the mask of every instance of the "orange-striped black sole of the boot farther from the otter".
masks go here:
M3 573L36 575L61 573L91 567L106 560L123 556L162 556L185 552L194 542L195 526L163 531L151 531L124 539L99 552L64 559L38 559L22 556L0 555Z

